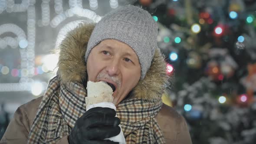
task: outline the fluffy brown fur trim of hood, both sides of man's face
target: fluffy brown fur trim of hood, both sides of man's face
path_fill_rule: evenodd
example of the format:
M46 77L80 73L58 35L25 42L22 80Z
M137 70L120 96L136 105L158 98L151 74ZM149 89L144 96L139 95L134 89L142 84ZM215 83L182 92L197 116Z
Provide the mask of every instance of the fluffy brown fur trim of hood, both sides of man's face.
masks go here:
M80 82L86 88L87 72L85 52L95 24L79 23L69 31L57 47L59 51L58 75L62 83ZM151 67L145 78L134 88L132 98L157 98L165 91L168 76L166 63L159 48L156 49Z

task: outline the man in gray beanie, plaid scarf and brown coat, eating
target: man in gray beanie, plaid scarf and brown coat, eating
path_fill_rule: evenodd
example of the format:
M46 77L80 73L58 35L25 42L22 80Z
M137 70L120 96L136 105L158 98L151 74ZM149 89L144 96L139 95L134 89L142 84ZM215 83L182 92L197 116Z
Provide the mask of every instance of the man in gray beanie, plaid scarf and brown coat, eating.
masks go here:
M115 144L105 138L122 131L127 144L191 144L184 118L161 101L168 77L157 31L135 6L80 23L59 46L45 95L17 109L1 143ZM86 111L87 81L112 87L116 111Z

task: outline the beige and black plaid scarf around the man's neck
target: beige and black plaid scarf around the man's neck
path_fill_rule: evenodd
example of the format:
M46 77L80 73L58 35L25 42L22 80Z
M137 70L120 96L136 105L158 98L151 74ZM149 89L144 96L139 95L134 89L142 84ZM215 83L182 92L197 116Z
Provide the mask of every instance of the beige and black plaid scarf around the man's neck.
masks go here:
M58 76L49 81L28 137L28 144L54 144L68 135L75 121L85 113L86 90L80 83L61 84ZM161 98L126 99L117 106L127 144L164 144L155 116Z

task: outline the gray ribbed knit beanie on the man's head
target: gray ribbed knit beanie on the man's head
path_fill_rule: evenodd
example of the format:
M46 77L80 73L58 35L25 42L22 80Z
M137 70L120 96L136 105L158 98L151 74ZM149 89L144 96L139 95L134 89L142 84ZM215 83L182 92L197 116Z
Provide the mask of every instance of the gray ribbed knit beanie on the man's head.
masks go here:
M123 6L106 14L92 31L85 53L87 61L92 48L105 39L116 39L130 46L141 65L144 79L157 48L158 26L152 16L135 6Z

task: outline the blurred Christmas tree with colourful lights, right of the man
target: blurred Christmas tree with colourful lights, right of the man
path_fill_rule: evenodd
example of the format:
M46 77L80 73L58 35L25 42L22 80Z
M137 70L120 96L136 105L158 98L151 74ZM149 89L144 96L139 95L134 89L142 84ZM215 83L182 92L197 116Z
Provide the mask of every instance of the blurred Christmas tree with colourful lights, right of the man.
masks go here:
M167 96L186 118L193 143L255 144L255 0L135 5L159 24L158 44L171 77Z

